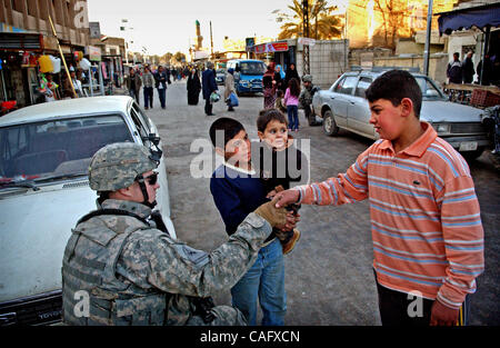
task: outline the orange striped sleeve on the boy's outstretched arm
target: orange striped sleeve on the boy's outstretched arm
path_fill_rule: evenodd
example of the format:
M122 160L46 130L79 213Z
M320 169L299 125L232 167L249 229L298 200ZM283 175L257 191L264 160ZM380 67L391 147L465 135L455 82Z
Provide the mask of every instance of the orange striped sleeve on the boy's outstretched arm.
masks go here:
M368 197L368 149L361 153L346 173L322 182L294 187L299 191L299 203L340 206Z

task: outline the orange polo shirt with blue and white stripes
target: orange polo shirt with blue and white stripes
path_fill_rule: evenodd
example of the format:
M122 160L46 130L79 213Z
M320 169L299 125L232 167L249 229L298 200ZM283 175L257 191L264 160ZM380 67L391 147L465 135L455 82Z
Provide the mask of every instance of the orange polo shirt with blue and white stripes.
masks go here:
M346 173L293 189L306 205L368 198L380 285L457 309L484 267L479 203L464 159L429 123L421 127L398 153L378 140Z

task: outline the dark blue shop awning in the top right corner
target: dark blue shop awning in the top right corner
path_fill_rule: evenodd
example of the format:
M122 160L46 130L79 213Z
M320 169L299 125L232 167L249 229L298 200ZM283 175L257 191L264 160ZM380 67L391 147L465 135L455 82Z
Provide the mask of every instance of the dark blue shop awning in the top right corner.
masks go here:
M452 31L477 27L500 27L500 3L459 9L436 13L439 16L439 34L450 34Z

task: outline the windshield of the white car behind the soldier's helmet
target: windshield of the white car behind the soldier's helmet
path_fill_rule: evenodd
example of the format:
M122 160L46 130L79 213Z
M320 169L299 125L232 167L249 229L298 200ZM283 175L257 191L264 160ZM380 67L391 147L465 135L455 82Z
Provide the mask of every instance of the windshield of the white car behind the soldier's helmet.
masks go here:
M93 153L119 141L133 141L119 115L0 128L0 187L87 175Z

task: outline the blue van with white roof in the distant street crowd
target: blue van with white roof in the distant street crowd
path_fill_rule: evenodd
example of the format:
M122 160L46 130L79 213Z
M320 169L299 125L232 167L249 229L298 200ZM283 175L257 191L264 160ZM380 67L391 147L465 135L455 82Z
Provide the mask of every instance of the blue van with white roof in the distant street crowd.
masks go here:
M234 89L238 96L262 92L262 76L267 70L263 61L233 59L228 61L227 68L234 69Z

